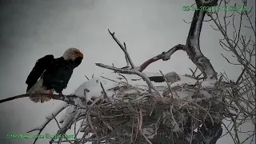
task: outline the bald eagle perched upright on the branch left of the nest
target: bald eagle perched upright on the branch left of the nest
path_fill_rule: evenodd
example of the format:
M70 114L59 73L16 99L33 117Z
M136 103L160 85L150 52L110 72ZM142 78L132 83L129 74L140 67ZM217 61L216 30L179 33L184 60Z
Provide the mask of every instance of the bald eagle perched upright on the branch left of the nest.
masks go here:
M62 94L66 88L73 70L82 62L83 54L76 48L69 48L60 58L49 54L38 59L33 70L26 78L26 94L49 94L46 96L31 96L33 102L47 102L54 92Z

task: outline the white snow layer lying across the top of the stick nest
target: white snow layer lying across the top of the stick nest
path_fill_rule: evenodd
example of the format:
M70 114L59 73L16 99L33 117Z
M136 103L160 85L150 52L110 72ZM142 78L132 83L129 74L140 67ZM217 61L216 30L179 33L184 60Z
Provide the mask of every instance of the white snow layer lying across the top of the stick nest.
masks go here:
M144 73L144 74L146 74L148 77L162 76L162 74L158 74L158 73ZM122 75L126 79L123 78ZM91 78L90 80L87 80L86 82L82 83L82 85L79 86L77 90L75 90L74 94L77 95L78 97L86 97L87 102L89 101L93 102L94 101L93 99L98 98L99 96L102 95L103 90L100 84L100 82L102 82L102 86L105 89L107 96L112 97L112 95L114 94L114 90L110 90L110 89L118 86L119 82L126 82L126 80L131 86L136 86L142 90L147 90L146 82L142 80L142 78L139 77L138 75L135 75L135 74L122 74L122 75L117 73L101 74L98 77ZM178 76L181 78L181 80L178 82L170 83L171 87L182 85L184 83L194 84L195 82L197 82L193 78L189 78L182 75L178 75ZM152 83L158 90L163 90L163 88L167 87L166 82L152 82ZM132 94L134 92L136 91L130 90L130 91L127 91L126 94L128 93Z

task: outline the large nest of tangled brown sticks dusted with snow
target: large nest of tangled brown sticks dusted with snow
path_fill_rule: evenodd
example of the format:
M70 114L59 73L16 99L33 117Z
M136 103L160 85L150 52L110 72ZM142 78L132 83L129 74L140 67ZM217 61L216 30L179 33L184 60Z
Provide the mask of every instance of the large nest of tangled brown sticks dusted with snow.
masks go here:
M88 105L83 132L86 141L106 143L184 143L190 142L191 130L204 122L219 123L218 103L222 90L202 90L199 85L159 86L159 93L122 83ZM196 132L194 132L195 134ZM189 138L188 138L189 137ZM159 141L161 139L162 141Z

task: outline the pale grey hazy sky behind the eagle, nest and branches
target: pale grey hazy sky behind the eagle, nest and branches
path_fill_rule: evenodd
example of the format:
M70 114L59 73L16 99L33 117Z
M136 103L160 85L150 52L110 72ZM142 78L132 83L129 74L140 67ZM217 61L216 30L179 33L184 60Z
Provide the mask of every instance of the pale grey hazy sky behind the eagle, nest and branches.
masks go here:
M185 44L193 12L182 11L194 1L179 0L2 0L0 2L0 98L26 93L26 77L38 58L46 54L60 57L75 46L84 54L82 64L74 70L64 94L73 93L86 80L84 75L100 74L103 70L95 62L125 66L122 50L110 37L107 29L114 31L127 49L135 64L139 65L171 46ZM254 6L250 0L249 6ZM254 16L255 17L255 16ZM250 30L242 31L243 34ZM210 59L217 72L226 71L230 78L240 72L222 58L226 54L218 45L218 31L205 22L202 27L202 53ZM176 71L190 73L194 64L183 51L176 52L168 62L155 62L147 72ZM110 72L110 71L109 71ZM25 134L39 126L62 102L51 100L35 104L29 98L1 104L0 143L27 144L30 140L7 139L6 134ZM253 127L249 125L248 127ZM57 126L50 122L42 134L54 134ZM38 144L48 143L41 139ZM218 143L232 143L222 138Z

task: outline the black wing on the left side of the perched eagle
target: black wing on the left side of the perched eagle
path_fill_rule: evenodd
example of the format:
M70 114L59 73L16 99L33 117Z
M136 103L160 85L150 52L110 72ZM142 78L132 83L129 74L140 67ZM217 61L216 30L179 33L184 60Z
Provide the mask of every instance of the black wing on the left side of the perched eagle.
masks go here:
M26 84L28 85L26 88L26 92L30 90L32 86L36 82L38 82L38 78L41 77L42 73L46 70L47 66L50 66L50 62L54 60L54 55L46 55L43 58L38 59L35 63L33 70L30 72L29 76L26 78Z

